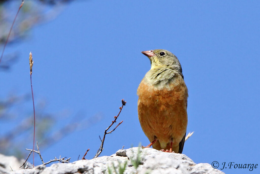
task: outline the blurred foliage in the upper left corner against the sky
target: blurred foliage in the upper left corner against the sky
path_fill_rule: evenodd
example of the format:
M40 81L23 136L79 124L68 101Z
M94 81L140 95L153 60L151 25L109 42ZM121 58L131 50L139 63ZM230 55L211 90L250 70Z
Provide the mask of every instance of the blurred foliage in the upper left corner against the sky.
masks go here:
M13 43L19 43L28 38L29 31L34 26L53 20L64 7L73 0L25 0L19 11L14 27L8 39L10 47ZM0 0L0 50L2 51L12 22L22 1ZM15 52L15 51L14 51ZM0 70L10 69L10 63L16 61L17 54L4 54L0 64Z

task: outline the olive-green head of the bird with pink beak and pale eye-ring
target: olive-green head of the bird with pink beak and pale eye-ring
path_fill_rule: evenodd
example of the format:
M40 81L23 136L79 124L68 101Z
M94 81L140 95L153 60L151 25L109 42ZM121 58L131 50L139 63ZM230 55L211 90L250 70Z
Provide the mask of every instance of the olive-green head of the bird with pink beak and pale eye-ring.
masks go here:
M144 55L146 55L151 61L151 69L155 68L170 68L177 73L179 73L182 77L182 69L178 58L171 53L170 51L157 49L157 50L149 50L142 51Z

